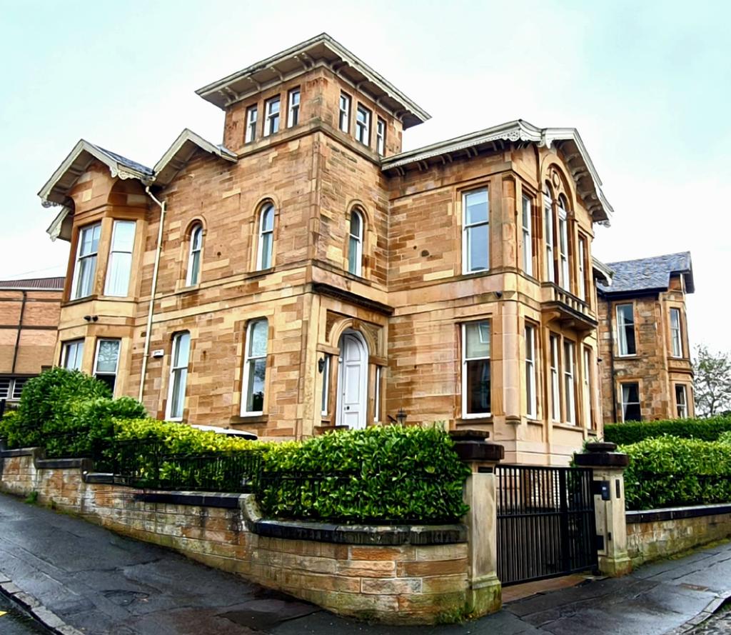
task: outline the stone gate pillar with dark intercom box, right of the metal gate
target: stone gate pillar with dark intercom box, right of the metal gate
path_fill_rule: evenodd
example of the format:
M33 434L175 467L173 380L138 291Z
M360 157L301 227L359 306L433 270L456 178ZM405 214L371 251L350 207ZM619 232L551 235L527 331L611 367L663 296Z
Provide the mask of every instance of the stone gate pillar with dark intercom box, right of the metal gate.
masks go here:
M587 443L586 454L577 454L576 465L594 470L599 571L618 577L632 571L627 555L627 526L624 510L624 468L629 456L616 452L616 443Z

